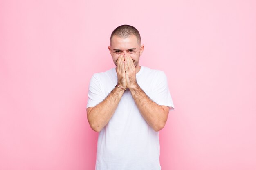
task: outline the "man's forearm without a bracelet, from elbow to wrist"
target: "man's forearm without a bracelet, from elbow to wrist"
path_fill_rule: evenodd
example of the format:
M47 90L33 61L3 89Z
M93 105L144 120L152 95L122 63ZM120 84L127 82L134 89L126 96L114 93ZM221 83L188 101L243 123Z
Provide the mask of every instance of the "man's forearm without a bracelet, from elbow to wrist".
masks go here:
M155 131L161 130L166 123L166 113L164 108L151 100L137 83L130 88L130 91L141 115L147 123Z

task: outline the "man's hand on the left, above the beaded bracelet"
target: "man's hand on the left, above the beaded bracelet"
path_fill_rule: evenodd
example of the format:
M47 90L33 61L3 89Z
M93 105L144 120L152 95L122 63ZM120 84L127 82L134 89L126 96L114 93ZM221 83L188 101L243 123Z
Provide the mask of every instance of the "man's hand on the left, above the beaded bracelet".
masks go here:
M117 59L117 85L127 88L125 79L125 68L124 68L124 55L123 53L119 55Z

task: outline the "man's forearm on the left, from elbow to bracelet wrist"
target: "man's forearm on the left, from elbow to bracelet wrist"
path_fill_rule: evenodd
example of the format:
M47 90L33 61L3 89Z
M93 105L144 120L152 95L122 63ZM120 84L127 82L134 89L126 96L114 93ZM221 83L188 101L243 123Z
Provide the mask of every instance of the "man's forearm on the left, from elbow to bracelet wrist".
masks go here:
M101 103L90 110L87 118L93 130L99 132L108 124L123 94L123 89L115 87Z

